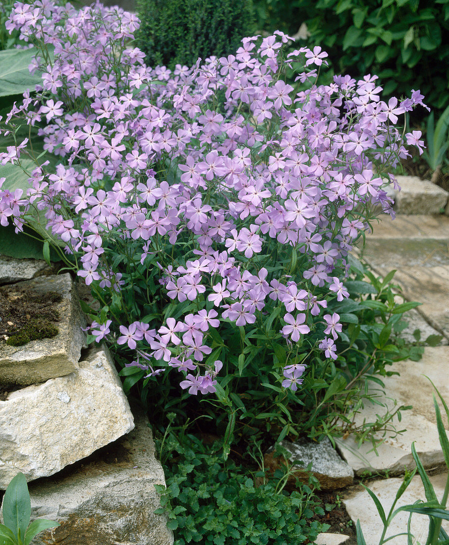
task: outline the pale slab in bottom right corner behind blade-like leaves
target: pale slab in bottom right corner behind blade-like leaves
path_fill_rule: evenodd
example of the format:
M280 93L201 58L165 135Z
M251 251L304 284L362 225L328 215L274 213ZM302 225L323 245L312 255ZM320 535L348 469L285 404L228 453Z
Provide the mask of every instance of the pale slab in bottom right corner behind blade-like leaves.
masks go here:
M435 489L436 497L441 500L446 485L447 473L434 475L429 477L429 479ZM385 513L390 511L390 507L395 500L396 492L401 486L402 481L403 479L385 479L382 481L374 481L367 485L379 499ZM357 486L344 492L341 497L354 524L356 524L357 519L360 520L366 545L378 545L383 531L383 523L381 522L377 508L374 505L374 501L368 495L368 492L361 486ZM415 475L409 487L405 490L401 498L399 498L396 506L411 505L419 499L426 501L426 494L424 494L424 488L420 477ZM407 532L409 516L410 513L407 512L398 513L396 517L393 518L389 529L386 532L386 537ZM443 520L442 527L448 532L449 521ZM410 530L414 535L412 541L414 544L426 543L428 529L428 517L417 513L412 514ZM407 545L407 536L395 537L388 543L391 543L392 545Z

